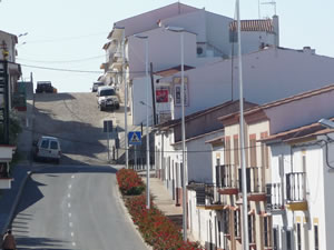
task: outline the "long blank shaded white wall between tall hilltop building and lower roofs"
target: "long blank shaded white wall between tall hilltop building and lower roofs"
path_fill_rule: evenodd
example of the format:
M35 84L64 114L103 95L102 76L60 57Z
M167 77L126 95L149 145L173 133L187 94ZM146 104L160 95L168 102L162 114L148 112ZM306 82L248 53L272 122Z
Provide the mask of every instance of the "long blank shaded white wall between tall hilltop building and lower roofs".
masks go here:
M230 60L223 60L185 72L185 77L189 79L190 102L186 107L186 114L232 99L230 66ZM271 48L245 54L244 97L250 102L263 104L317 89L334 82L333 68L333 58L296 50ZM171 82L171 78L164 78L163 81ZM237 97L238 78L235 67L233 98ZM180 118L179 107L175 107L175 118Z

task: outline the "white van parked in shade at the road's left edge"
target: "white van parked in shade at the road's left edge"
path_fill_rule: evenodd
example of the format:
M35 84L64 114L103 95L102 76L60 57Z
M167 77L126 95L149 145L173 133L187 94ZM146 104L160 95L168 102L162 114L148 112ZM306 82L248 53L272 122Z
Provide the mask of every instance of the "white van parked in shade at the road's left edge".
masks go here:
M52 160L59 163L61 158L60 142L55 137L40 137L33 141L33 160Z

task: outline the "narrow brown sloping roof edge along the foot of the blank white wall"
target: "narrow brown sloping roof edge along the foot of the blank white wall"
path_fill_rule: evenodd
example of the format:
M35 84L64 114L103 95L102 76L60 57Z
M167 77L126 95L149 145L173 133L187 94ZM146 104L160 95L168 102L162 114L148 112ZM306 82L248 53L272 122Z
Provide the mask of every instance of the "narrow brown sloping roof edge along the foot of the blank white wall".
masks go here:
M207 114L207 113L210 113L210 112L213 112L213 111L215 111L215 110L227 108L228 106L232 106L232 104L234 104L235 102L238 102L238 100L236 100L236 101L226 101L226 102L224 102L224 103L222 103L222 104L218 104L218 106L215 106L215 107L205 109L205 110L197 111L197 112L195 112L195 113L191 113L191 114L186 116L186 117L185 117L185 120L186 120L186 121L189 121L189 120L193 120L193 119L198 118L198 117L200 117L200 116L205 116L205 114ZM257 104L252 103L252 102L247 102L247 103L248 103L248 104L253 104L253 106L257 106ZM161 130L164 130L164 129L169 129L169 128L171 128L171 127L175 127L175 126L179 124L180 122L181 122L181 119L179 118L179 119L166 121L166 122L164 122L164 123L161 123L161 124L157 124L156 127L157 127L157 128L160 128Z

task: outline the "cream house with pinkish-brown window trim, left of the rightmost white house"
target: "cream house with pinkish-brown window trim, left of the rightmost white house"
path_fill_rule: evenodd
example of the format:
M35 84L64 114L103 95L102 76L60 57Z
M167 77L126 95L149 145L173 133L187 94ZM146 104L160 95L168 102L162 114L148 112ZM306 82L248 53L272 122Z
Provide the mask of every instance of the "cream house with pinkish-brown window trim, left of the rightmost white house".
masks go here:
M277 247L277 239L279 238L273 237L272 224L275 223L275 216L282 217L281 213L275 212L283 211L283 207L277 206L277 202L273 202L273 208L276 209L267 209L271 208L271 202L267 199L271 193L275 196L276 200L277 197L282 198L279 194L282 186L277 183L277 178L282 173L278 171L278 168L272 168L272 161L269 160L271 150L265 147L263 140L267 137L271 138L273 133L288 131L292 128L312 123L321 118L334 116L331 106L333 99L334 86L332 84L253 107L245 111L248 223L252 228L249 230L249 244L253 249L275 249ZM193 183L188 186L189 210L190 208L198 210L191 210L191 227L194 227L193 231L195 231L194 237L200 236L200 238L196 239L202 243L213 244L219 249L240 250L243 243L243 218L240 216L243 203L239 172L239 113L222 117L219 121L224 124L224 137L217 136L217 138L207 141L213 147L213 160L212 167L207 166L206 171L212 172L213 183L203 183L203 187ZM314 130L310 129L305 131L314 132ZM283 132L284 134L286 132ZM298 142L304 137L303 131L292 131L291 134L297 137ZM281 140L277 140L275 136L273 136L272 141L277 143L277 148L281 147L279 149L282 149ZM289 154L292 151L288 148L288 143L284 147L284 153ZM272 154L274 156L274 152ZM286 160L288 158L289 156L286 157ZM277 166L277 160L275 164ZM296 178L301 179L301 173L297 171ZM285 180L285 177L283 179ZM289 184L288 189L296 190L296 188L302 187L302 182L291 181L291 183L295 186L292 187ZM275 187L275 189L271 189L271 187ZM301 194L297 191L295 193ZM273 198L273 201L276 201L275 199ZM302 201L304 202L304 200ZM305 203L303 202L302 204L293 202L292 206L305 209L305 206L303 207ZM198 218L198 214L203 218ZM190 218L188 219L190 220ZM285 220L281 218L281 221ZM202 226L198 223L202 223ZM213 224L214 227L204 227L203 223ZM203 229L200 232L198 232L199 228ZM212 229L210 232L208 231L209 229ZM274 233L275 236L277 233L275 228ZM206 236L213 237L207 238ZM208 241L209 239L212 241ZM282 249L286 248L283 247Z

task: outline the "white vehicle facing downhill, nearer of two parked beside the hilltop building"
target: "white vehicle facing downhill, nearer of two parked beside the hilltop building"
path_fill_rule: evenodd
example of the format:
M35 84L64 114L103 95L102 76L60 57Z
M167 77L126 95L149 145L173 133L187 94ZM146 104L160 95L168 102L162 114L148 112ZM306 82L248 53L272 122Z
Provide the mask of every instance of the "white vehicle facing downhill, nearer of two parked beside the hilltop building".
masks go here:
M106 109L119 109L119 99L112 87L99 87L97 92L100 111Z

